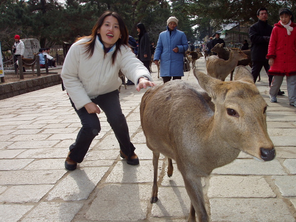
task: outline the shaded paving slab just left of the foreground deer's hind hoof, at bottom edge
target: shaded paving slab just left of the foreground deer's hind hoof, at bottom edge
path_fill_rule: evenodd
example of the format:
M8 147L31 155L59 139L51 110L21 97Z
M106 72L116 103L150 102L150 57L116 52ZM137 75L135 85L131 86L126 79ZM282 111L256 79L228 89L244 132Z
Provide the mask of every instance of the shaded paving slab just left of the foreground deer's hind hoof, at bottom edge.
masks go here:
M89 221L146 219L150 185L106 184L97 191L85 218Z

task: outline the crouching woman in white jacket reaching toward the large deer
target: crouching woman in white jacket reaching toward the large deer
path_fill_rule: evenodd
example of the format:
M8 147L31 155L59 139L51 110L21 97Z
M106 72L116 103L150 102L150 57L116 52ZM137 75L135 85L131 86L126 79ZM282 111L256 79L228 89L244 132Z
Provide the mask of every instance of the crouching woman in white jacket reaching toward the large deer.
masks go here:
M97 114L100 109L105 112L118 140L120 156L128 164L139 164L119 103L118 88L122 83L119 70L137 83L137 91L155 85L146 67L128 47L128 32L121 16L106 11L93 27L92 34L71 46L63 65L63 83L82 124L75 143L70 146L66 169L76 169L99 134L101 126Z

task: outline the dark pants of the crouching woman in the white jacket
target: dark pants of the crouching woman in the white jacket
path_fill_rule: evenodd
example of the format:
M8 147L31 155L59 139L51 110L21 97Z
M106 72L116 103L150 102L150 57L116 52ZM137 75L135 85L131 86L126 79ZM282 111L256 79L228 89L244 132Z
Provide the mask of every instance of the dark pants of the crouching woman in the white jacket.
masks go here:
M130 157L134 153L135 147L130 141L126 119L120 107L118 90L99 95L92 99L92 102L105 112L107 121L119 143L119 148L125 155ZM72 101L71 103L74 107ZM84 107L79 110L74 107L74 110L80 118L82 128L78 132L75 143L70 146L70 158L77 163L81 163L91 142L101 131L101 124L97 113L88 113Z

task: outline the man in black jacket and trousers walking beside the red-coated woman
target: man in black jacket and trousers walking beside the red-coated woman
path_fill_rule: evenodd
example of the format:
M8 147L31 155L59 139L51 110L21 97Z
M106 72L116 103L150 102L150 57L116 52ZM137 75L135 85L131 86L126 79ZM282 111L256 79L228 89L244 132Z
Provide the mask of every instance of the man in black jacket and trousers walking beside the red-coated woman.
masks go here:
M267 23L268 11L265 7L259 8L257 11L258 22L250 27L249 37L251 39L251 57L252 57L252 75L256 82L262 67L266 73L270 68L266 55L268 52L269 39L272 32L272 26ZM273 75L268 75L269 86L271 85ZM284 92L279 91L278 95Z

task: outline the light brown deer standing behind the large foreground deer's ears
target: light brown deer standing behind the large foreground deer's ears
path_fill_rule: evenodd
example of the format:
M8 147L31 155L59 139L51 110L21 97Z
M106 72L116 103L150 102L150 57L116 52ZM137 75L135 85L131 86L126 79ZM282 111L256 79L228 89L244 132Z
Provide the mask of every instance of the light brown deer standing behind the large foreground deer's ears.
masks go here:
M225 81L227 75L234 70L239 60L247 59L248 56L238 48L227 47L230 51L229 59L223 60L218 56L210 56L206 63L208 75Z

